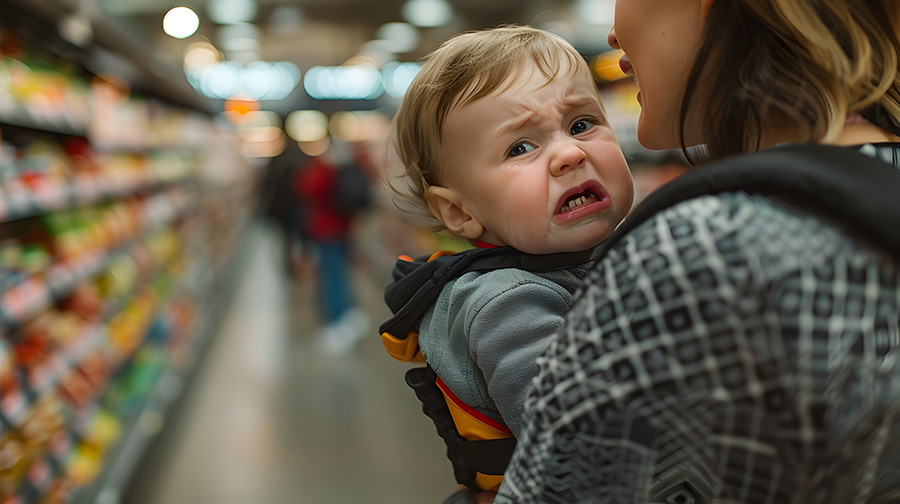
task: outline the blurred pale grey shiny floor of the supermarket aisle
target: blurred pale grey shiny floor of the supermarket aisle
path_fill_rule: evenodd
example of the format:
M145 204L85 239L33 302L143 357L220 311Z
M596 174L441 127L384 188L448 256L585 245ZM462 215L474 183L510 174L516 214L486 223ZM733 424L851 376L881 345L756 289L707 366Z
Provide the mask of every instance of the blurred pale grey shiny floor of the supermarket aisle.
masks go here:
M135 504L440 502L455 484L443 448L375 337L346 356L317 351L312 285L252 234L246 272ZM360 272L374 321L380 288Z

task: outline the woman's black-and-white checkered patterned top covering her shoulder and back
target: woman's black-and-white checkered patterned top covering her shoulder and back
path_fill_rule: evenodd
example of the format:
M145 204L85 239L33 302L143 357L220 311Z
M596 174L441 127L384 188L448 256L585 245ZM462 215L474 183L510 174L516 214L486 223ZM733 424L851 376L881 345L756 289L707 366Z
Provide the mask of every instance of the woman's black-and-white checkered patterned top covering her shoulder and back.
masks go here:
M762 196L658 214L539 359L495 502L900 502L898 264Z

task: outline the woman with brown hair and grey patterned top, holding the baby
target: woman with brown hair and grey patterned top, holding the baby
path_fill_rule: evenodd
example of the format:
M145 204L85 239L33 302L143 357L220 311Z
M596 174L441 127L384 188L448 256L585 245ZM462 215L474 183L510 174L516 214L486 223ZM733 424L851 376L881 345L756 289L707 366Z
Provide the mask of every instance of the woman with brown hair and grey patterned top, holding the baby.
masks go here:
M807 152L769 172L868 189L726 190L610 238L495 502L900 501L900 208L871 183L900 176L898 34L896 0L616 3L644 146L768 151L669 187Z

